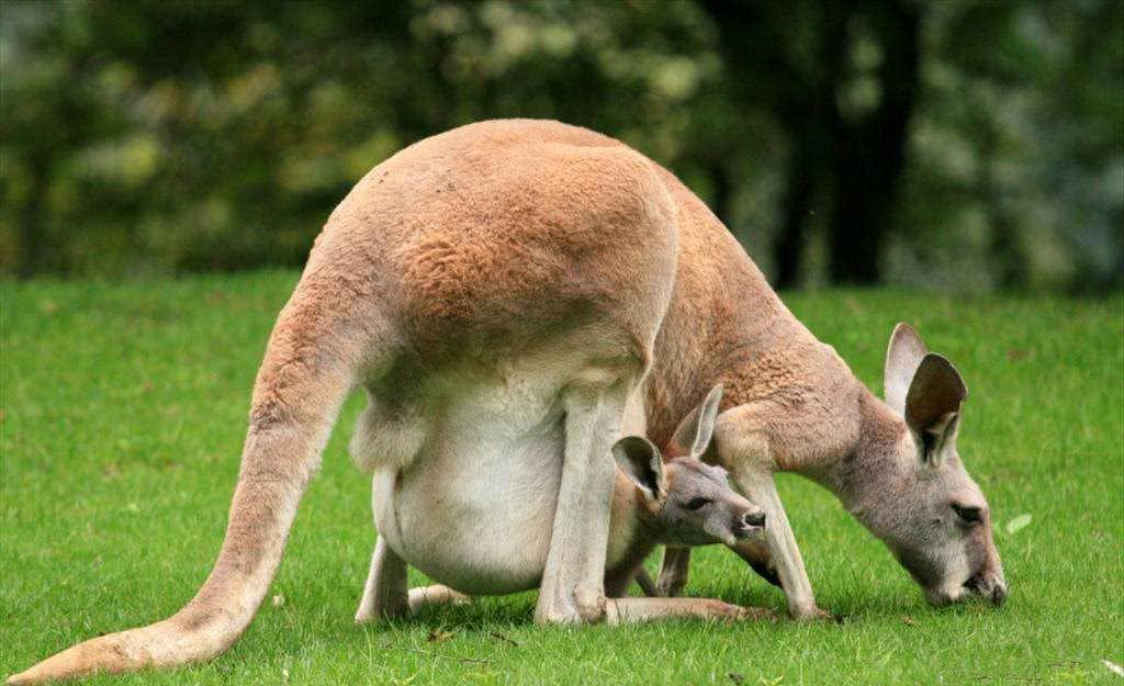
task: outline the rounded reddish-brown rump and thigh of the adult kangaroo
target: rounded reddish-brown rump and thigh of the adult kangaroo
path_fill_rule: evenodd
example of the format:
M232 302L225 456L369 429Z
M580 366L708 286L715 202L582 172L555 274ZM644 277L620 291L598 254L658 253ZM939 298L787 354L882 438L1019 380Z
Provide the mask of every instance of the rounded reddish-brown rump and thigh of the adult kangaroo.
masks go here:
M387 160L317 241L334 276L377 300L429 358L497 354L544 326L613 318L646 356L674 263L670 198L619 143L541 121L469 126ZM499 350L497 350L497 346ZM644 360L646 362L646 360Z

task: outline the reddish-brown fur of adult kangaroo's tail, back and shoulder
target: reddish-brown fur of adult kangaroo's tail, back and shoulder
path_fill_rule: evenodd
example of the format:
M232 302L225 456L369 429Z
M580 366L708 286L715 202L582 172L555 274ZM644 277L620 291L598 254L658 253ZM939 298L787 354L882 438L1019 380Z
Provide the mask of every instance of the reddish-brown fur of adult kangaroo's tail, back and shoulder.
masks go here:
M372 170L317 238L271 336L227 538L198 596L171 622L94 639L10 683L218 655L264 597L351 389L402 354L429 369L488 364L573 332L614 388L649 371L658 444L718 382L732 472L752 458L815 476L860 441L867 390L670 172L554 121L465 126Z

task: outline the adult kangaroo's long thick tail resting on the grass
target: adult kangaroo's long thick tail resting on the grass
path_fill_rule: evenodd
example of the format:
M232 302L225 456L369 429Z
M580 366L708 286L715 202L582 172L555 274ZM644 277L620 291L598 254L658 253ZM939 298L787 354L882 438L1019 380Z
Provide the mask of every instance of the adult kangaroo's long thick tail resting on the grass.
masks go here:
M238 639L281 561L297 504L356 383L362 349L378 347L370 318L355 312L370 300L355 296L306 272L278 317L254 386L226 539L194 598L164 621L79 643L8 684L203 661Z

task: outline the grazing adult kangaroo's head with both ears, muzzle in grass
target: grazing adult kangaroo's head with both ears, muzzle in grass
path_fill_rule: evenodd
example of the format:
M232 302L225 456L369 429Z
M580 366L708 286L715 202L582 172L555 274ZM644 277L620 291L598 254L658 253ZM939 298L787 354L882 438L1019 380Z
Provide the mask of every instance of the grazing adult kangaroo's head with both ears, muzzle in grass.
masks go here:
M943 356L898 324L886 356L886 405L863 416L851 509L933 605L1007 596L987 499L957 452L968 388ZM887 407L889 412L887 412Z

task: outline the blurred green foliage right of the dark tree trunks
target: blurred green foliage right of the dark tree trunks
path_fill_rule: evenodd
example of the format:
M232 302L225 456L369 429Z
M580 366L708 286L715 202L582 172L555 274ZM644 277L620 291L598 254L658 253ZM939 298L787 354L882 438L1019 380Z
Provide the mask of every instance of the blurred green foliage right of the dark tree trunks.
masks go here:
M942 2L923 44L890 278L1118 288L1124 4Z

